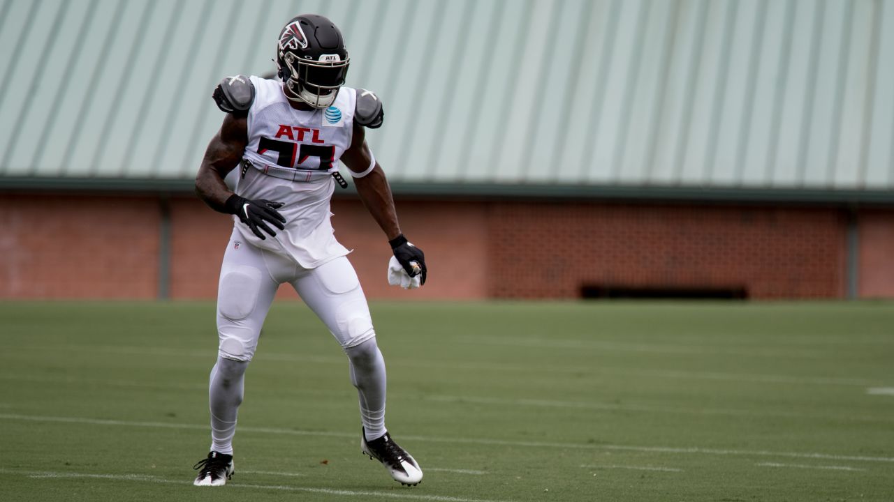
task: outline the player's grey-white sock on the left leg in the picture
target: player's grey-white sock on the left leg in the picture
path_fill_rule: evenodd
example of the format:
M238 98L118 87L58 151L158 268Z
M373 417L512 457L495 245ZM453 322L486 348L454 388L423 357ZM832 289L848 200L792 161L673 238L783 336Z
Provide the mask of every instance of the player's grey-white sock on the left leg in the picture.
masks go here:
M208 408L211 411L211 449L232 455L232 437L236 433L236 414L242 403L245 370L248 361L217 357L208 382Z

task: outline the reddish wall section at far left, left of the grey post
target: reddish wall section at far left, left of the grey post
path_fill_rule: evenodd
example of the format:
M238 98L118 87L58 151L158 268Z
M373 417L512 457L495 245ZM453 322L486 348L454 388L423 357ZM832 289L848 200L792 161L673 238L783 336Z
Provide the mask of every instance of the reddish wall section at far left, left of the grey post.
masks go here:
M153 298L155 197L0 197L0 297Z

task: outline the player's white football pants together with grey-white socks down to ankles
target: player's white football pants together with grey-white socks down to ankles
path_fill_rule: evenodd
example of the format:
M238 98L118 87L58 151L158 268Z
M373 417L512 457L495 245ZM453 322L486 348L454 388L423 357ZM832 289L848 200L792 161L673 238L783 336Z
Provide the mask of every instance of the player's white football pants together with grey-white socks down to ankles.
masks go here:
M367 440L385 433L385 366L357 272L348 259L304 269L293 260L243 242L233 231L223 255L217 291L217 364L209 381L211 448L232 455L236 415L245 371L276 289L288 282L339 341L358 389L360 418Z

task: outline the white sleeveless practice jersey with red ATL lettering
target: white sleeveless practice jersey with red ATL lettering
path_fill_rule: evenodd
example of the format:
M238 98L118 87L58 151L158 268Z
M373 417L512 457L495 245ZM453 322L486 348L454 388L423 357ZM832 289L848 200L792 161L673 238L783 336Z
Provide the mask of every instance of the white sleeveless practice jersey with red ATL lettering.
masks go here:
M249 144L243 156L256 169L244 170L236 193L282 202L278 211L286 223L284 230L274 228L275 237L265 232L264 240L234 216L236 229L247 242L291 256L307 269L347 255L329 221L335 182L327 173L338 171L338 160L350 147L357 91L342 87L332 106L304 111L291 107L279 80L250 79L256 95L249 109ZM295 176L287 180L265 173L285 170L294 170Z

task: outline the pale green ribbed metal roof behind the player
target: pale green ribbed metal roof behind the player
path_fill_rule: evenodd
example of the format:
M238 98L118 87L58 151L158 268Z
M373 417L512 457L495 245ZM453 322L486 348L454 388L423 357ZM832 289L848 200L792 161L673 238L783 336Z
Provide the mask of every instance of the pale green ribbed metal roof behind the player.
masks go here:
M398 191L894 188L894 0L3 0L0 187L188 186L298 13L383 98Z

